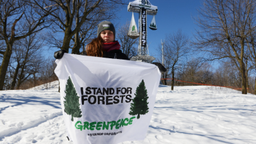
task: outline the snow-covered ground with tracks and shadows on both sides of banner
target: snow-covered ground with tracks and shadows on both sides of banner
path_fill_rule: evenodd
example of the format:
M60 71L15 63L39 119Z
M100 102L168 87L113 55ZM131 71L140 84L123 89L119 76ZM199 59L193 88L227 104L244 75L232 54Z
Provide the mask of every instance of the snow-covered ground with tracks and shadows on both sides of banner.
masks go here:
M0 143L66 143L58 82L0 92ZM144 141L256 143L256 96L214 86L160 86Z

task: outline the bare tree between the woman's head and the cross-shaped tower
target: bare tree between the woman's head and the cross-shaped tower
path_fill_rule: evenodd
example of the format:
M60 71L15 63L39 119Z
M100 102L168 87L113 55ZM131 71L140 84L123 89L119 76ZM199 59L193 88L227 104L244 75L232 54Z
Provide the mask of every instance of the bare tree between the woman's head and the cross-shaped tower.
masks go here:
M125 25L118 27L116 38L120 41L122 52L125 53L128 58L131 58L137 55L138 49L136 46L138 46L138 38L129 38L129 24L129 21L127 21Z

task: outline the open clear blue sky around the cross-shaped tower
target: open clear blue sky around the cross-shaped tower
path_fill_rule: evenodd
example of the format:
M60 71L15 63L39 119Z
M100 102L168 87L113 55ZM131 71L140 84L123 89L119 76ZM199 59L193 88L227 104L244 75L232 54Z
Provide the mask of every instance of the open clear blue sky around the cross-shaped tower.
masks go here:
M131 0L133 1L133 0ZM158 6L156 14L157 30L147 29L147 43L149 44L149 54L157 56L156 48L164 40L165 34L176 32L182 29L182 32L193 37L197 28L192 16L198 16L197 9L200 8L201 0L149 0L152 5ZM120 25L131 21L131 12L127 12L127 5L122 8L118 14L120 19L116 23ZM138 26L138 13L134 13L136 25ZM153 16L147 16L147 25L151 23Z

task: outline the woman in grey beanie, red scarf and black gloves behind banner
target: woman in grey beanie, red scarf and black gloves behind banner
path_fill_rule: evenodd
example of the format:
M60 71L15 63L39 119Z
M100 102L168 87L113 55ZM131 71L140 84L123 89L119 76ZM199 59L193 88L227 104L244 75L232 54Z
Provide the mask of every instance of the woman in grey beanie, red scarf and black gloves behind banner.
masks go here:
M91 43L86 46L85 56L96 56L103 58L114 58L129 60L129 58L120 50L120 44L116 38L116 29L109 21L103 21L98 24L97 38L94 38ZM66 53L65 50L56 51L54 58L61 59ZM153 62L160 71L167 71L159 62Z

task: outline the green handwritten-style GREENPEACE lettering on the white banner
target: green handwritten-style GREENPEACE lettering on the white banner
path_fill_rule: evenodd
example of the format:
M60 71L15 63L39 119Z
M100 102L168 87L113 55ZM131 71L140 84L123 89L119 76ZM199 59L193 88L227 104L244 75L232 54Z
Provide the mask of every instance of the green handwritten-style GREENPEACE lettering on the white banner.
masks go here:
M88 121L82 122L81 121L77 121L75 124L76 129L78 130L113 130L113 128L115 129L119 129L123 126L127 126L127 125L131 125L133 119L135 119L136 117L131 117L130 119L125 118L125 119L118 119L118 121L94 121L89 123Z

